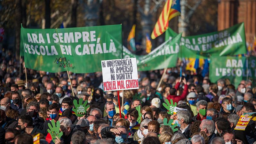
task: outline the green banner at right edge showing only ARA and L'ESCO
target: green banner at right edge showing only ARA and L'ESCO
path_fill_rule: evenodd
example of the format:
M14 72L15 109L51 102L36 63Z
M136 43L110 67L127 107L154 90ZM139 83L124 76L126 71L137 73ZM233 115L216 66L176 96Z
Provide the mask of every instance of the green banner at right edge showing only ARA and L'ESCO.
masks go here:
M214 57L210 61L210 80L216 83L219 79L228 78L235 87L241 80L251 80L256 84L256 57Z

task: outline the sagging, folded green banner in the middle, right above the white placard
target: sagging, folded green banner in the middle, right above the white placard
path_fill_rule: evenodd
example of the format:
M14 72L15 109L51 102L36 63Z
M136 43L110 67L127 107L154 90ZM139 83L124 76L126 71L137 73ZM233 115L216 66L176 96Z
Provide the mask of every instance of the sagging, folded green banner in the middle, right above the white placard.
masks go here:
M138 71L157 70L176 66L181 34L165 41L147 55L138 56L124 48L124 58L136 58Z

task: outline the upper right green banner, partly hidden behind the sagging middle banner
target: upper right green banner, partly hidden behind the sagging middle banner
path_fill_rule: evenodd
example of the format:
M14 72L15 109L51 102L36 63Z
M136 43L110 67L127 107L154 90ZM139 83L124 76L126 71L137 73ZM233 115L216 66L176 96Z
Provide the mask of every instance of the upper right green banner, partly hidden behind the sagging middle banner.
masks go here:
M176 35L168 28L165 41ZM208 34L181 37L180 41L182 58L206 59L210 56L235 56L247 52L244 23Z

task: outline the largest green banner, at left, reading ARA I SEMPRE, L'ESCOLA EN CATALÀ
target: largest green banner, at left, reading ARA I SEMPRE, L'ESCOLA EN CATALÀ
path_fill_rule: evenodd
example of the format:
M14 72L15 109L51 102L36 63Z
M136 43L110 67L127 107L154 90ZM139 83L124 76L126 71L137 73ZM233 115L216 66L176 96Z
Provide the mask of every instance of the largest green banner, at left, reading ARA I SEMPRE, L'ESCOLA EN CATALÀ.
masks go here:
M21 28L20 44L27 68L92 73L101 71L101 60L122 59L122 26Z

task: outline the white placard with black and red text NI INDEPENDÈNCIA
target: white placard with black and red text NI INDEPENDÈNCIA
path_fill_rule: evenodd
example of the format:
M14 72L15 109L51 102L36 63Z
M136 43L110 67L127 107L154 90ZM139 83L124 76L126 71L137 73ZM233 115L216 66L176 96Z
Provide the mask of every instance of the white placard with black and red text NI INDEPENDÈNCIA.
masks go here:
M104 91L139 88L136 58L101 60Z

